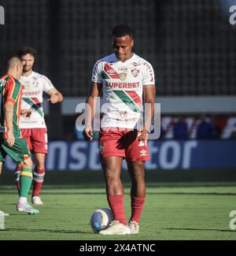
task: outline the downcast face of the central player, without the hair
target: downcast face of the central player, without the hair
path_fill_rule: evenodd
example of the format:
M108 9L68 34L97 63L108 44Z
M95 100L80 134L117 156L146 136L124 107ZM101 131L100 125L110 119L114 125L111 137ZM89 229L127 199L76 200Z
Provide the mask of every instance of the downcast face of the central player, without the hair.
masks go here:
M119 61L124 62L132 57L134 40L129 35L114 37L112 46Z

